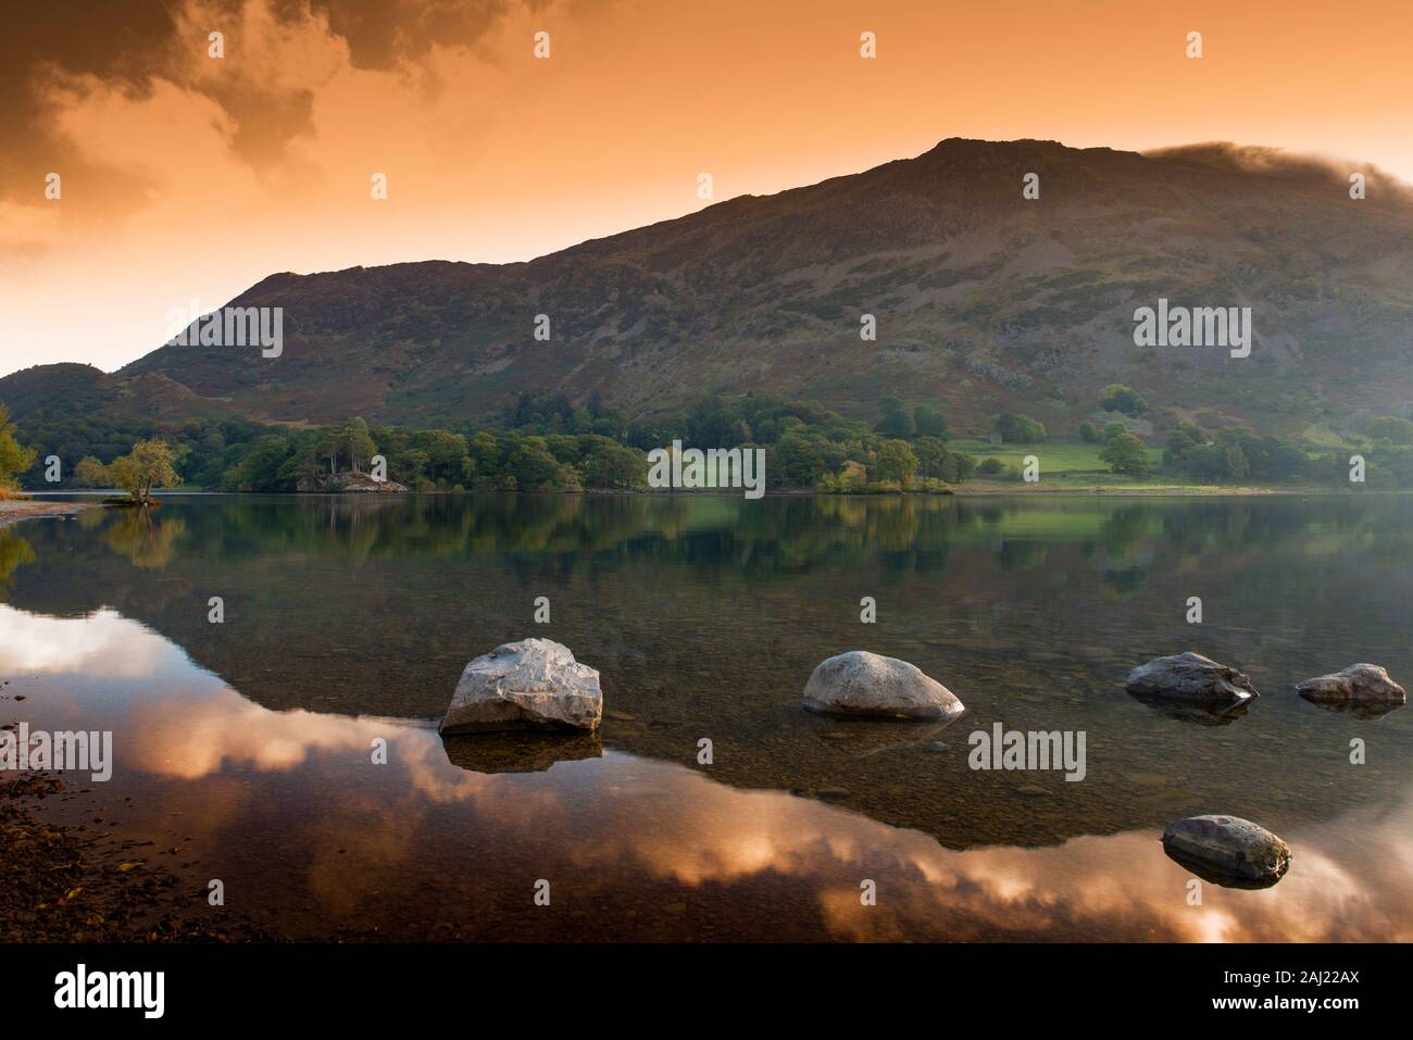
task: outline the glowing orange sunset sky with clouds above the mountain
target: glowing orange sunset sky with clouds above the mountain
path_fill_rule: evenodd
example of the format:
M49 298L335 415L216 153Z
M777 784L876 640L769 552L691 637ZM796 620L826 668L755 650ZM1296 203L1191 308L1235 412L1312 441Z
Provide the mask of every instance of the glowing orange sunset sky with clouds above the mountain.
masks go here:
M947 137L1413 182L1410 54L1406 0L4 4L0 374L113 370L271 273L528 260L711 205L704 172L719 202Z

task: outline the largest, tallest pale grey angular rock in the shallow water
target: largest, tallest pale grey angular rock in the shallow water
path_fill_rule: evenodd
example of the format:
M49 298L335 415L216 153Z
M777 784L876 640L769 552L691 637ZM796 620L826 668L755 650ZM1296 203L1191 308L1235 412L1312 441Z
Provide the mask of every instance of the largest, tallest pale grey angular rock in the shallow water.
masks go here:
M548 639L523 639L482 654L461 673L442 733L588 729L603 718L599 673Z

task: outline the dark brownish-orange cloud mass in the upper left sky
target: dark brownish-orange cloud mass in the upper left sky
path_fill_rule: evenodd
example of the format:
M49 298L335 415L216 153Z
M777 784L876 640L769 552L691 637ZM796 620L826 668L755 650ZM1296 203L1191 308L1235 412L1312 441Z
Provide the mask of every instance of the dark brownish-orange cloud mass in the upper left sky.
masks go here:
M452 64L487 65L499 49L487 40L547 7L538 0L185 0L168 8L76 0L62 18L41 8L0 32L7 40L0 198L38 205L42 177L52 170L93 182L131 174L133 164L114 161L109 150L126 134L148 150L148 170L123 179L122 191L100 192L103 206L89 209L130 215L162 184L155 167L216 158L181 136L191 119L218 127L230 158L266 174L290 160L292 141L318 140L319 96L350 73L382 78L389 95L427 93L448 52L456 55ZM209 54L218 31L223 58ZM178 99L189 112L175 112ZM407 100L415 107L420 99ZM110 131L73 133L95 119L107 120ZM95 194L82 198L92 203Z

